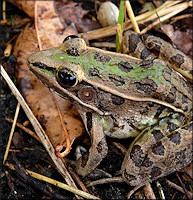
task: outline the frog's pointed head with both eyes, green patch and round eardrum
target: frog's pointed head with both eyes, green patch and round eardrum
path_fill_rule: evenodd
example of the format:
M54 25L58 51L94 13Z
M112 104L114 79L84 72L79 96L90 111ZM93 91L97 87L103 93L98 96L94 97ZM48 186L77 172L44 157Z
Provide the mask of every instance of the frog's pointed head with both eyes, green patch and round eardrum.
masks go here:
M30 55L28 66L47 87L61 97L103 114L97 108L96 87L88 83L81 60L77 60L80 56L76 56L76 53L85 50L83 39L68 37L60 48Z

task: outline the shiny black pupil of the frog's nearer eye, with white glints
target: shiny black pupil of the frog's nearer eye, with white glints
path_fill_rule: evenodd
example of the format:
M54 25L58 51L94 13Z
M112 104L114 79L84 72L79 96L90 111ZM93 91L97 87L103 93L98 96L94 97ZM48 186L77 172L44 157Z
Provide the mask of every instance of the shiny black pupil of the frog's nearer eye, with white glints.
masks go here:
M58 81L64 87L73 86L76 83L76 76L68 72L58 72Z

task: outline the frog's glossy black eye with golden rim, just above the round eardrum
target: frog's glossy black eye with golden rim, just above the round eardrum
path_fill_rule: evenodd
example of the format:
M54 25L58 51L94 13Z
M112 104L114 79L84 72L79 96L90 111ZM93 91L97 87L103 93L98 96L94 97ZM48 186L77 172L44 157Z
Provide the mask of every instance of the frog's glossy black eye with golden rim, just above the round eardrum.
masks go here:
M78 82L76 75L69 69L57 71L56 78L58 83L63 87L73 87Z

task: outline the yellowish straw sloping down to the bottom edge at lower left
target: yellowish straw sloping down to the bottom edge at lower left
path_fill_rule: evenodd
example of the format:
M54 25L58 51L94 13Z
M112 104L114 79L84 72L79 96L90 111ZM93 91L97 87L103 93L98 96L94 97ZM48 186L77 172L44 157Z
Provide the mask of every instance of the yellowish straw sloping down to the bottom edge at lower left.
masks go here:
M10 163L6 163L6 165L7 165L10 169L15 170L14 165L12 165L12 164L10 164ZM83 192L82 190L76 189L76 188L74 188L74 187L70 187L70 186L68 186L67 184L61 183L61 182L59 182L59 181L56 181L56 180L51 179L51 178L49 178L49 177L43 176L43 175L38 174L38 173L36 173L36 172L30 171L30 170L26 170L26 171L27 171L32 177L34 177L34 178L36 178L36 179L38 179L38 180L44 181L44 182L46 182L46 183L50 183L50 184L52 184L52 185L55 185L56 187L62 188L62 189L64 189L64 190L67 190L67 191L72 192L72 193L74 193L74 194L77 194L77 195L79 195L79 196L82 196L82 197L84 197L84 198L86 198L86 199L100 199L100 198L98 198L98 197L96 197L96 196L93 196L93 195L91 195L91 194L88 194L88 193L86 193L86 192Z

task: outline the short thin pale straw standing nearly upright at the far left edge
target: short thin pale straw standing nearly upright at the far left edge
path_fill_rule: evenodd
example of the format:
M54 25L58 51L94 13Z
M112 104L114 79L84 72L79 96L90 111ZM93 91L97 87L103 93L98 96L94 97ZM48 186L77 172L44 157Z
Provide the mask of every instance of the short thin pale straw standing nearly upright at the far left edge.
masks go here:
M15 125L16 125L17 117L19 115L19 110L20 110L20 103L18 102L16 111L15 111L15 116L14 116L12 128L11 128L11 132L10 132L10 135L9 135L9 140L8 140L7 147L6 147L6 150L5 150L3 164L5 164L5 161L7 159L8 153L9 153L9 148L10 148L11 140L12 140L13 133L14 133L14 130L15 130Z

